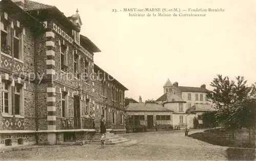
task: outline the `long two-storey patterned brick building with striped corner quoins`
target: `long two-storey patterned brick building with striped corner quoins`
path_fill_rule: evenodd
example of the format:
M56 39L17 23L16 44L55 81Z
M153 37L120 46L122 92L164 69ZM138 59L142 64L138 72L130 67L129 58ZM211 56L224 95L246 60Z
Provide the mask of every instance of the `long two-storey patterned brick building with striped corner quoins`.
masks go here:
M1 147L88 140L100 115L108 131L125 131L127 89L94 64L100 49L81 35L78 10L66 17L55 6L2 0L0 14Z

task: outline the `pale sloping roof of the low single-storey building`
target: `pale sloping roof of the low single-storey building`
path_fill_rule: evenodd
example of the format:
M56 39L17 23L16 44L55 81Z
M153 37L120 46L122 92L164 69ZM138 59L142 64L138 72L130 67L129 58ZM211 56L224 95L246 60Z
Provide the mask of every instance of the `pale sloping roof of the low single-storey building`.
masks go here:
M126 106L125 111L165 111L171 112L171 110L163 108L162 105L156 103L130 103Z

